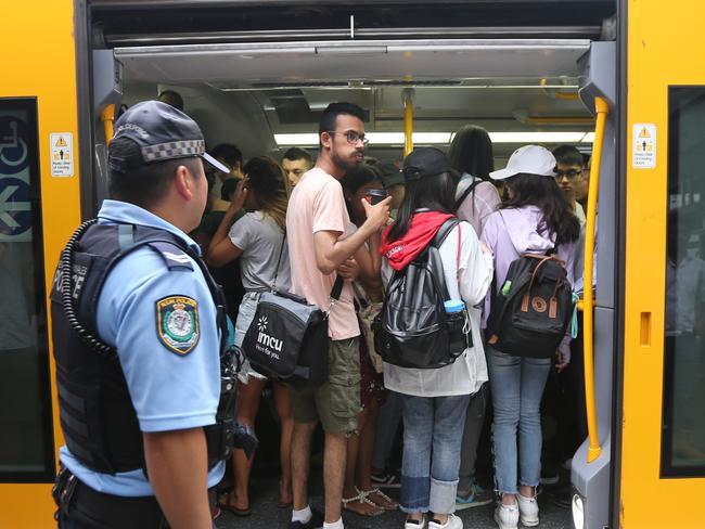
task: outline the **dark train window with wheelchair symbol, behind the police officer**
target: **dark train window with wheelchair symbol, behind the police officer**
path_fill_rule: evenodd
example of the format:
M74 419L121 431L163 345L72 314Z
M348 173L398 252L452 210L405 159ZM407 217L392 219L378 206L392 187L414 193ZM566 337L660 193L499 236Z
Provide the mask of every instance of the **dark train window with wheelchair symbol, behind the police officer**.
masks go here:
M47 481L53 439L37 102L0 99L0 481Z

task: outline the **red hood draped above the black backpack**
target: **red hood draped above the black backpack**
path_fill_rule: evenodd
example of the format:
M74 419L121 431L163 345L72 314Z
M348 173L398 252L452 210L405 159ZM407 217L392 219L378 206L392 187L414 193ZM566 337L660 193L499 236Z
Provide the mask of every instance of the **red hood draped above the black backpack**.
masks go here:
M454 215L438 211L415 214L411 217L409 231L398 241L392 242L388 240L392 227L387 227L382 234L380 254L387 258L393 269L402 270L431 244L443 223L452 217Z

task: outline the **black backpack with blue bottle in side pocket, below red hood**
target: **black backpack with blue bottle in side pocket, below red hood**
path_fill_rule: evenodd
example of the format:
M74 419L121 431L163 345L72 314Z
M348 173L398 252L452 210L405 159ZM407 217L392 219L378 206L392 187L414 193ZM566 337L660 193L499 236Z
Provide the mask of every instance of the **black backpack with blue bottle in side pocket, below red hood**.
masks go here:
M448 219L431 244L386 288L382 311L374 319L374 348L382 359L401 367L436 369L456 361L472 347L466 309L447 314L450 299L438 248L460 223Z

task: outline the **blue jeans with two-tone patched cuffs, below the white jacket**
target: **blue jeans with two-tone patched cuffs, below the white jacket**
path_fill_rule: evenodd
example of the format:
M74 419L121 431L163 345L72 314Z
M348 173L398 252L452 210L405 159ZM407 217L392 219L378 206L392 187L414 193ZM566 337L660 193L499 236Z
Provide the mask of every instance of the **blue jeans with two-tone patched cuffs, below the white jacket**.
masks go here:
M470 396L402 395L401 398L403 456L400 508L405 513L452 513L456 509L460 447Z

